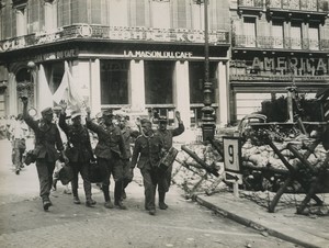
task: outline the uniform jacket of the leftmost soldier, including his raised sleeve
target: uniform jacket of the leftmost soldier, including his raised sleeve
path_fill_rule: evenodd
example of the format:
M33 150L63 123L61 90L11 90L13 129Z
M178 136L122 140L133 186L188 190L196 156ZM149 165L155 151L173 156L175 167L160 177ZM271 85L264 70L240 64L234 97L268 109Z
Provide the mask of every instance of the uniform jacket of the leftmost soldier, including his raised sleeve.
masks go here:
M59 158L57 150L64 150L57 125L55 123L45 123L43 120L34 121L30 115L24 115L23 119L25 123L34 131L34 153L36 158L45 158L49 162L56 161Z

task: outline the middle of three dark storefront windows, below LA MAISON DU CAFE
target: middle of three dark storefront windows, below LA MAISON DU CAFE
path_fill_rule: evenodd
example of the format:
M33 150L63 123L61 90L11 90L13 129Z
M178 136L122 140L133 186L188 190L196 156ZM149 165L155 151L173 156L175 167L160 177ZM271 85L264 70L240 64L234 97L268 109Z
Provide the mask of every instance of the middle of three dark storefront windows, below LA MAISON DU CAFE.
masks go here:
M145 61L146 104L172 104L173 61Z

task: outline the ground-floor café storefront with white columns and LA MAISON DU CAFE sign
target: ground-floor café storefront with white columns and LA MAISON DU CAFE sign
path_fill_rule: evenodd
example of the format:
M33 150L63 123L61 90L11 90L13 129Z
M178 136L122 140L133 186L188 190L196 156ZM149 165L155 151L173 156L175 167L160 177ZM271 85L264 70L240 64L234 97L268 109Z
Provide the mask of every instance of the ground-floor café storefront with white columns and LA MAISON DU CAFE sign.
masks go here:
M228 113L228 63L225 56L209 56L213 82L212 100L216 124L226 125ZM35 50L26 58L8 63L8 82L3 92L3 114L22 111L20 95L29 91L30 108L37 113L55 106L54 94L61 83L72 80L92 114L104 109L125 109L135 113L157 111L175 125L174 111L180 111L185 126L200 127L203 104L204 57L202 49L145 47L111 49L57 48ZM27 66L33 61L35 66ZM32 84L30 82L33 82Z

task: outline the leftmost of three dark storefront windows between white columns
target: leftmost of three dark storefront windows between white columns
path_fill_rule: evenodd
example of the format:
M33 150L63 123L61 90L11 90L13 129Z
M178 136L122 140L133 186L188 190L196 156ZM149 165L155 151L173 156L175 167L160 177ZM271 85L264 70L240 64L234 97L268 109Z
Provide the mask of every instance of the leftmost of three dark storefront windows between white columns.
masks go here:
M128 104L127 60L101 60L101 104Z

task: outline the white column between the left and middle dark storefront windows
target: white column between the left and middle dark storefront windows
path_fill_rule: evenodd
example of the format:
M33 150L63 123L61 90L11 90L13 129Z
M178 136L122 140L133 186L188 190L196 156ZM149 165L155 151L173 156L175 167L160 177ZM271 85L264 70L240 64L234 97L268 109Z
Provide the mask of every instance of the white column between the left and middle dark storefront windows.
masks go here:
M131 60L129 102L133 112L145 110L145 75L144 60Z

